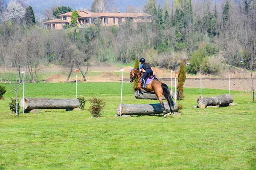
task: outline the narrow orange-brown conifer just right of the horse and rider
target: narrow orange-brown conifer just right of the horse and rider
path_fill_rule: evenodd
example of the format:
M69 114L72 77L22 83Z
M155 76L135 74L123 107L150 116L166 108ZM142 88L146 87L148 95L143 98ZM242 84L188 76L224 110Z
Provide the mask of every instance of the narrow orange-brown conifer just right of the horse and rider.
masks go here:
M183 96L183 85L186 80L186 71L185 71L185 64L184 62L180 63L180 71L178 74L178 85L177 85L177 99L182 99Z

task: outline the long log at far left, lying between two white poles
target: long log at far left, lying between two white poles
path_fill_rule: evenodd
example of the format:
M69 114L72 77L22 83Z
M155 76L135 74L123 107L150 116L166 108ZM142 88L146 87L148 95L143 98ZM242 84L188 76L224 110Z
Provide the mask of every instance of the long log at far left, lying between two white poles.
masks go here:
M23 99L20 100L23 107ZM24 98L24 109L67 109L80 106L78 99Z

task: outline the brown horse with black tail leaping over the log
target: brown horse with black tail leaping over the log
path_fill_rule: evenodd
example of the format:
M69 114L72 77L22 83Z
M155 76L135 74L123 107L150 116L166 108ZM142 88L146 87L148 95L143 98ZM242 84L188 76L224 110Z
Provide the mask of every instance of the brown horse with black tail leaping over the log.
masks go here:
M140 81L142 76L143 76L143 72L140 72L139 69L131 69L131 72L130 72L130 82L133 82L134 79L136 77L138 77L138 86L137 88L135 88L135 90L140 90L142 91L142 88L141 86L143 86L143 83ZM163 82L161 82L160 80L158 79L153 79L148 85L147 85L147 88L144 89L145 91L154 91L154 93L156 94L159 102L161 103L161 106L163 108L163 116L164 117L167 117L166 116L166 110L164 108L164 105L163 105L163 99L162 99L162 96L164 96L167 100L167 103L170 107L170 111L173 115L173 111L172 111L172 107L174 107L174 102L172 101L172 96L170 94L170 91L169 91L169 88L166 84L164 84ZM172 106L172 107L171 107Z

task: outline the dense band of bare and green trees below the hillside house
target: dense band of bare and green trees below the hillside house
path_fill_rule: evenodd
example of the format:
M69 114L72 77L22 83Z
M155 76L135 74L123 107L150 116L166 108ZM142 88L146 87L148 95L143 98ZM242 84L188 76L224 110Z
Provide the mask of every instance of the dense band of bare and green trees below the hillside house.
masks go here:
M65 30L45 30L42 23L35 23L32 7L24 8L18 1L1 6L1 2L4 0L0 0L0 64L19 72L26 68L32 82L36 82L40 65L63 66L70 72L67 81L74 68L79 68L86 80L90 64L129 63L141 57L152 66L171 69L184 60L190 63L185 68L192 74L200 67L204 73L218 74L224 64L255 70L253 0L148 0L143 11L151 14L151 23L127 21L119 27L88 28L73 23L74 27ZM108 10L109 2L95 0L92 10ZM16 12L11 10L14 7ZM22 12L13 15L17 11ZM59 6L51 16L58 18L67 11L73 9Z

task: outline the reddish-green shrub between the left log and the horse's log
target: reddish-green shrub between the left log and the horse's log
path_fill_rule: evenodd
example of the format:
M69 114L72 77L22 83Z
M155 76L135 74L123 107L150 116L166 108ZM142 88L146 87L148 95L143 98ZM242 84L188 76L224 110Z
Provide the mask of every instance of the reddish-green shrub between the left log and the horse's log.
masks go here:
M89 102L91 104L89 112L93 117L100 117L102 116L102 110L106 105L106 102L104 102L103 99L93 97L92 99L89 99Z

